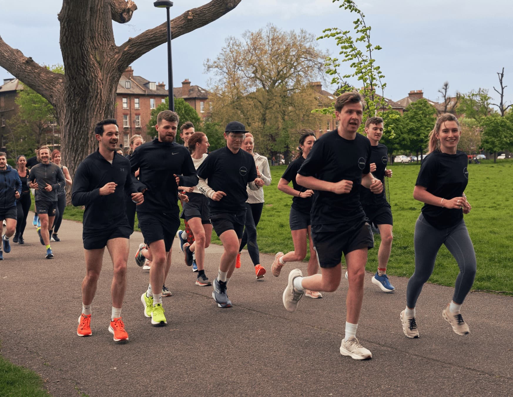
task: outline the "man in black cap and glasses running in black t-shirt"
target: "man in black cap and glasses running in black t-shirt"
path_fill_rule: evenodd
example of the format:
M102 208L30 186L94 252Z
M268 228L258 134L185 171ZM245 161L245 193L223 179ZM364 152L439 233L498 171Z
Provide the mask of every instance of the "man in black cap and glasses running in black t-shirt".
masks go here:
M235 268L246 221L246 186L259 190L264 185L257 177L253 156L240 150L245 132L244 124L229 122L224 133L226 147L210 153L196 170L200 180L198 188L211 199L208 203L210 221L224 247L212 292L219 307L231 307L226 286Z

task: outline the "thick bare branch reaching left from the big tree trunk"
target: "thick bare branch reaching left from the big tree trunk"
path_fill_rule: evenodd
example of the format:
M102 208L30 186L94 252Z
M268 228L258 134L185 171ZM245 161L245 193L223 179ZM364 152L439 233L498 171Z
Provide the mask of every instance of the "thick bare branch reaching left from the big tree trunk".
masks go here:
M38 65L31 57L26 57L18 49L12 48L0 37L0 66L17 77L31 89L41 94L52 105L62 90L64 76L53 73Z

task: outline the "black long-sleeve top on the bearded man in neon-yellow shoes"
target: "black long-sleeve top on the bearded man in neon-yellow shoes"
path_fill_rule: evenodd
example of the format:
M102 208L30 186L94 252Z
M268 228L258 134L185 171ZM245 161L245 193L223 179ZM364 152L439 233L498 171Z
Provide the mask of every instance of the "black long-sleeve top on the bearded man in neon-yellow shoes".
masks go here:
M137 205L137 212L179 213L178 185L175 177L180 176L180 186L196 186L198 176L189 150L181 144L160 142L154 139L143 143L130 157L132 181L137 190L144 189L144 202ZM139 180L134 176L139 169Z

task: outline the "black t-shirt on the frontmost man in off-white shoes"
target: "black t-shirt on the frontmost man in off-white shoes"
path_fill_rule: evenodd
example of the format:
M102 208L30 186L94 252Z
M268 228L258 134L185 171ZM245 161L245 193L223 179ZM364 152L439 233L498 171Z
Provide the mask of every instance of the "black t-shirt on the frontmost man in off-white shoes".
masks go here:
M351 180L353 185L347 194L315 191L310 212L312 229L317 232L336 231L365 219L359 190L362 174L370 172L369 160L370 141L361 134L347 140L334 130L313 144L298 174L328 182L346 179Z

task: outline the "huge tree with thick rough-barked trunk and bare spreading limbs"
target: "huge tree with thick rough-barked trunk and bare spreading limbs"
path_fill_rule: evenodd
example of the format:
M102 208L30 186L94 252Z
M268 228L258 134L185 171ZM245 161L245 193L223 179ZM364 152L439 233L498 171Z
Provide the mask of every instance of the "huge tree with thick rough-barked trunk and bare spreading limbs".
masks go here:
M172 37L209 24L240 2L212 0L184 12L171 21ZM123 71L134 60L166 43L167 22L130 37L121 45L115 43L112 21L125 24L136 9L133 0L63 0L57 18L65 75L36 64L0 37L0 66L55 108L62 128L63 157L71 176L95 148L90 133L94 123L114 115L116 87Z

